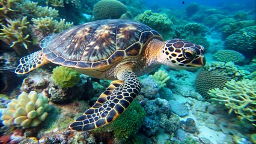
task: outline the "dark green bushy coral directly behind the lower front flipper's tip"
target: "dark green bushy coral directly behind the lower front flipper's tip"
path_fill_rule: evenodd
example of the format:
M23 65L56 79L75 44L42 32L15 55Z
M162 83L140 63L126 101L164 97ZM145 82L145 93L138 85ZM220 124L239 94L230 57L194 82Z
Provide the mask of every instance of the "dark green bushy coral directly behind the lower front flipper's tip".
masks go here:
M114 122L102 128L102 131L114 131L114 136L118 140L127 140L135 135L145 119L145 111L137 100L133 100L132 104L119 118Z

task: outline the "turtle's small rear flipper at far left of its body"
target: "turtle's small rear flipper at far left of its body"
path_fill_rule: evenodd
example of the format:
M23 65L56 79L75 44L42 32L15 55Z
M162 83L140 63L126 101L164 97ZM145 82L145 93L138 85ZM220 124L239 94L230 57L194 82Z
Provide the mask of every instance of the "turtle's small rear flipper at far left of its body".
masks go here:
M47 63L49 63L49 61L44 58L43 52L39 50L21 58L20 64L17 66L15 73L26 74L29 71L32 71L35 68L41 67L42 65Z

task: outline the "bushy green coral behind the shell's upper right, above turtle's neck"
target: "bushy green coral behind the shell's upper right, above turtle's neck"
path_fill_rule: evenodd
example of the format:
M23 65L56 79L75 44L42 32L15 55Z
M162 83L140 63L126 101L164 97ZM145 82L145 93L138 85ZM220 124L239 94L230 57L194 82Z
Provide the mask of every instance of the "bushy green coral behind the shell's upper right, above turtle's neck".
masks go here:
M135 20L160 32L169 31L172 26L172 22L166 14L153 13L151 10L139 14L135 17Z

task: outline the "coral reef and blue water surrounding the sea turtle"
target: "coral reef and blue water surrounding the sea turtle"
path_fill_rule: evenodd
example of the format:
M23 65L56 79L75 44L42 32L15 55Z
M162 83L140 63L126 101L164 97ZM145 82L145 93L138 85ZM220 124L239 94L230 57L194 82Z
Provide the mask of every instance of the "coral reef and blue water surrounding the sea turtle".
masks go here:
M256 143L255 7L249 0L0 0L0 143ZM47 35L100 19L133 20L165 40L200 44L206 65L139 77L141 93L123 115L74 132L69 124L111 81L55 64L14 70Z

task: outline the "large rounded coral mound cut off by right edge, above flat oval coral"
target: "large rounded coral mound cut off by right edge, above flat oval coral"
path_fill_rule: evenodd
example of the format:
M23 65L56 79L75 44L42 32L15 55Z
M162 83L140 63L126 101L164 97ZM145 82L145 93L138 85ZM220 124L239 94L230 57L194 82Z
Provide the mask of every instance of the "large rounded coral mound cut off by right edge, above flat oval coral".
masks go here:
M246 55L253 55L256 50L256 26L249 26L231 34L225 40L226 48Z

